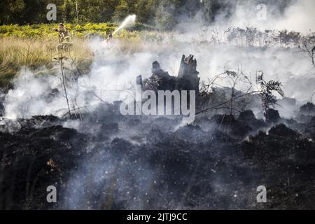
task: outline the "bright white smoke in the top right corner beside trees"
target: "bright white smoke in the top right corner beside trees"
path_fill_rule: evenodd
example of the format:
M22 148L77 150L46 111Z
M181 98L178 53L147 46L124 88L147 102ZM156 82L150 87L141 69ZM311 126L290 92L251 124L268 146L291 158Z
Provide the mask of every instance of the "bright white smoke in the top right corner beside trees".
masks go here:
M223 27L255 27L260 30L283 30L309 33L315 31L315 1L296 0L287 1L288 6L278 5L277 1L267 1L266 8L261 9L255 1L235 1L235 12L229 19L226 12L216 17L216 25ZM261 2L263 3L263 1ZM260 13L265 19L259 20ZM283 13L281 13L283 10Z

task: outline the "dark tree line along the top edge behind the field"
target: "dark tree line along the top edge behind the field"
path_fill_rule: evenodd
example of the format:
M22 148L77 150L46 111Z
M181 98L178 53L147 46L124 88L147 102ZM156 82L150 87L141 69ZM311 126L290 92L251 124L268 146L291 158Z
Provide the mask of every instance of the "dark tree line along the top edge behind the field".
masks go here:
M137 21L169 29L179 20L202 14L214 19L223 0L1 0L0 24L31 25L48 23L49 3L57 6L55 22L118 22L136 14Z

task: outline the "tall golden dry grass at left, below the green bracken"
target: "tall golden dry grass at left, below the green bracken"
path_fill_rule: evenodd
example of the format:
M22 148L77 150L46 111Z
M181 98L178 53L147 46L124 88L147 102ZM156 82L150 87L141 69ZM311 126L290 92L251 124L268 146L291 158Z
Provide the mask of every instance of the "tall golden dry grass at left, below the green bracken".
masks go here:
M8 85L22 66L34 71L41 66L50 67L57 55L57 39L32 38L0 38L0 87ZM92 61L92 52L87 46L87 40L73 38L71 57L78 66L89 66ZM84 69L84 68L83 68Z

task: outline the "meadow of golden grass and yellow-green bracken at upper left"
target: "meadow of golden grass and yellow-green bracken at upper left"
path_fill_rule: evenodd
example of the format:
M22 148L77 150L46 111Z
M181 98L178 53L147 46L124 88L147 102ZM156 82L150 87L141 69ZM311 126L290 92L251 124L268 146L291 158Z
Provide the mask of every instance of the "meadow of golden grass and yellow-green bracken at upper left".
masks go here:
M2 25L0 26L0 87L6 89L10 81L18 74L22 66L37 69L48 68L55 63L57 55L58 33L54 31L57 24L41 25ZM92 52L88 48L89 38L99 36L106 38L117 25L110 23L87 23L85 25L66 24L71 34L71 57L76 59L78 66L88 69L92 62ZM132 30L122 30L116 38L139 43L140 36L152 38L148 31L139 31L143 25L135 25ZM127 47L128 43L125 44ZM137 45L137 44L136 44ZM124 46L124 45L122 45Z

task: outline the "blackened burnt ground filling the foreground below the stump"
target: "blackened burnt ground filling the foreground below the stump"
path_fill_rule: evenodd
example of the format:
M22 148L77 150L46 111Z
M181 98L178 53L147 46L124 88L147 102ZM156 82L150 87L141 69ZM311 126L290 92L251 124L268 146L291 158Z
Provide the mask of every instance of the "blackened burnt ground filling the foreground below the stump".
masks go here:
M315 117L265 123L244 111L179 127L116 107L82 121L3 121L0 208L315 209ZM257 202L258 186L267 203Z

